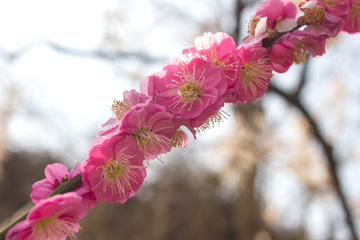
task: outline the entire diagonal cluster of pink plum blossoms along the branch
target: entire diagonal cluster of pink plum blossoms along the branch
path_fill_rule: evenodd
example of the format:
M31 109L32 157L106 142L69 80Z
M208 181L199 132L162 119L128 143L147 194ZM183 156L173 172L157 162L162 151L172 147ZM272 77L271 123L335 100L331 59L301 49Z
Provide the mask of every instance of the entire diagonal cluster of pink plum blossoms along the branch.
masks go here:
M141 187L151 160L187 146L181 127L196 138L227 116L221 110L225 103L261 97L273 71L286 72L308 54L321 56L326 41L340 31L359 32L360 0L307 0L299 9L303 15L297 18L290 0L267 0L238 46L226 33L204 33L162 70L142 78L140 92L125 91L85 161L70 172L58 163L46 167L46 178L33 185L35 207L6 239L74 238L86 208L98 201L124 203ZM46 198L78 174L82 183L72 192Z

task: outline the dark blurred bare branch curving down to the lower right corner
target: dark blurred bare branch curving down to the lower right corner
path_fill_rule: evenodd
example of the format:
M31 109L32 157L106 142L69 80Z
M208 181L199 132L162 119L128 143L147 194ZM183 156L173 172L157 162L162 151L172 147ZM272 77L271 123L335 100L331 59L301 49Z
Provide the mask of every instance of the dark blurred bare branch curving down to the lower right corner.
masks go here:
M299 88L300 89L300 88ZM299 90L298 89L298 90ZM346 215L346 220L347 223L349 225L350 231L351 231L351 235L352 235L352 239L353 240L358 240L358 236L355 230L355 224L353 221L353 216L352 213L350 211L350 207L346 201L346 197L345 197L345 193L343 188L341 187L340 184L340 177L338 174L338 166L337 163L335 161L334 155L333 155L333 148L331 145L329 145L327 142L325 142L323 136L321 135L318 126L316 125L315 121L313 120L313 118L310 116L310 114L308 113L308 111L304 108L304 106L300 103L300 101L298 100L298 94L296 91L295 94L287 94L283 91L281 91L280 89L278 89L277 87L273 86L272 84L269 85L269 91L271 92L275 92L278 95L282 96L286 101L288 101L289 103L291 103L292 105L294 105L295 107L297 107L302 114L305 116L305 118L308 120L310 126L312 127L313 130L313 134L316 137L316 139L320 142L324 153L327 157L328 160L328 165L330 168L330 174L332 176L332 180L333 180L333 184L335 186L336 192L339 195L344 213Z

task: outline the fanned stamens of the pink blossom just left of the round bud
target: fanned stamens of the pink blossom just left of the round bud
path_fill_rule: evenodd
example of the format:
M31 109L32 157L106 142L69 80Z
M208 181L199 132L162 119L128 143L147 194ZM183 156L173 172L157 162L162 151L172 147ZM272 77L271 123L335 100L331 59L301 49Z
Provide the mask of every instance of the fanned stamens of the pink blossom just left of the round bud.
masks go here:
M247 94L248 89L252 92L254 99L258 97L258 89L266 90L270 78L273 76L272 68L265 57L254 62L248 62L240 70L241 87Z

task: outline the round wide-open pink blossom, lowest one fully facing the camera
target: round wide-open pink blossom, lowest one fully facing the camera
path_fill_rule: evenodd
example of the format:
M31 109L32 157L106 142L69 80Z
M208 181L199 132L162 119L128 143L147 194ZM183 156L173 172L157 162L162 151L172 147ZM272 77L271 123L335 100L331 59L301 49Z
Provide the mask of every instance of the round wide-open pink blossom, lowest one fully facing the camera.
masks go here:
M132 138L111 136L89 151L81 164L82 181L100 202L124 203L146 177L144 155Z

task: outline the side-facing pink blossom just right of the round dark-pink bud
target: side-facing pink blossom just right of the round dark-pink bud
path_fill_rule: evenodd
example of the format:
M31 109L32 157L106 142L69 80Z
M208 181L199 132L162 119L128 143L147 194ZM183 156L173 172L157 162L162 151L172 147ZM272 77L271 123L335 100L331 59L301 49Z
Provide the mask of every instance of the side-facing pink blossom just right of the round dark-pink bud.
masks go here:
M311 35L309 32L294 30L287 33L279 41L289 41L296 49L291 49L296 64L306 61L306 52L312 57L321 56L325 53L326 39Z

